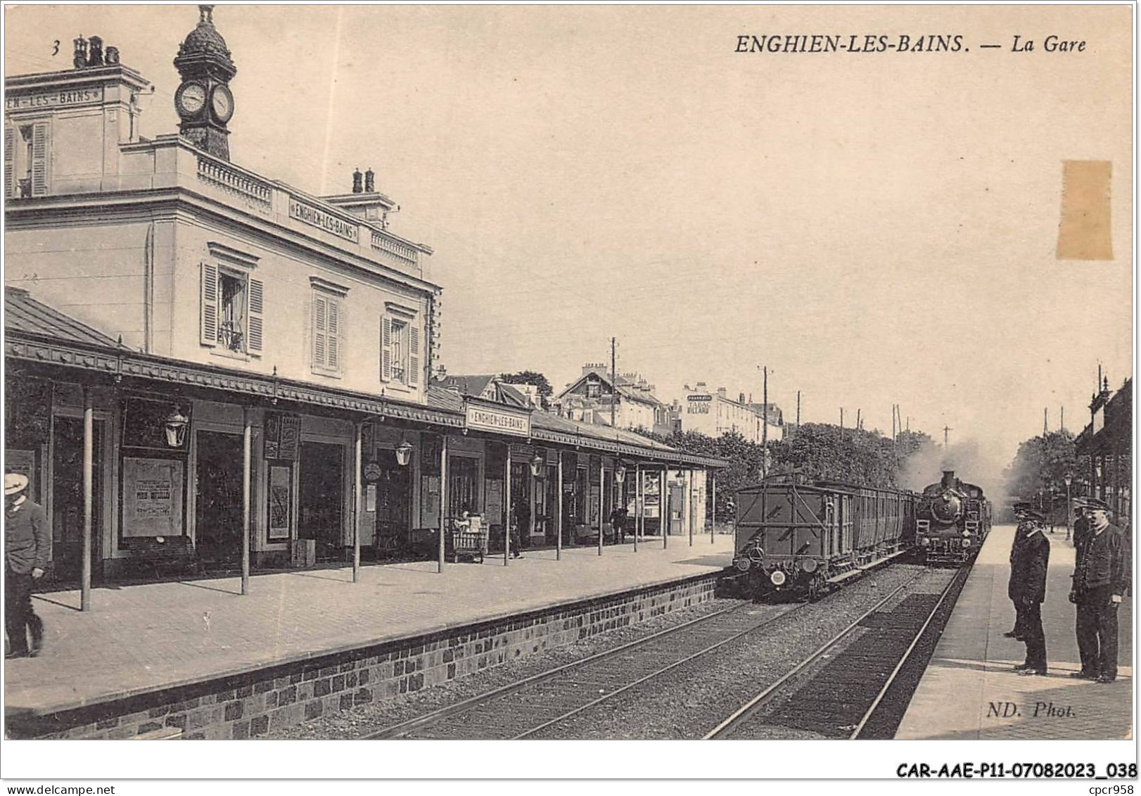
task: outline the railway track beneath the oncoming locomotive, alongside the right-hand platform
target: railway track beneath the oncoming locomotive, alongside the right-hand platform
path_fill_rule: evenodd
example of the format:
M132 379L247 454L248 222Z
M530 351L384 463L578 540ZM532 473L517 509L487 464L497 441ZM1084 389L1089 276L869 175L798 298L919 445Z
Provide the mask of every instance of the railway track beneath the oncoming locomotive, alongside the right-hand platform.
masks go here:
M705 738L771 737L772 727L890 738L970 569L961 568L941 592L916 592L882 611L914 580L903 584Z

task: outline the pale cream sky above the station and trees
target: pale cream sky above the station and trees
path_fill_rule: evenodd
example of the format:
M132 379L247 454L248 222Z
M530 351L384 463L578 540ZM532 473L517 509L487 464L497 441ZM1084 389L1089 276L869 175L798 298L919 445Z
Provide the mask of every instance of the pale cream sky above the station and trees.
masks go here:
M1132 9L219 6L232 159L316 194L354 168L432 247L451 373L586 362L787 419L969 443L995 466L1132 375ZM192 6L14 7L8 74L98 34L155 86ZM743 34L958 53L735 53ZM1036 42L1014 53L1013 37ZM1046 53L1047 34L1084 40ZM52 56L54 42L59 51ZM1001 48L982 49L982 43ZM1111 260L1055 257L1062 162L1111 162Z

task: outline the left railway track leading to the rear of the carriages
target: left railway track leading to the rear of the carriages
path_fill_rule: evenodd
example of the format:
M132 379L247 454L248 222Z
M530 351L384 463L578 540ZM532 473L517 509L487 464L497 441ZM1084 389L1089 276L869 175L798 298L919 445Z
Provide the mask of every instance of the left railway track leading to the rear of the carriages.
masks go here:
M527 738L723 648L802 606L738 603L646 638L364 734L361 739Z

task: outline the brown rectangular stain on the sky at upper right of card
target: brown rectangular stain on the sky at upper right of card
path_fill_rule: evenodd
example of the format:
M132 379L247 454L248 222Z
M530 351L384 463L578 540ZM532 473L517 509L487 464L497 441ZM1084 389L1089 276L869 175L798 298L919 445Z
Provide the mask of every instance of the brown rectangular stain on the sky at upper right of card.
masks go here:
M1114 259L1109 236L1111 172L1108 160L1062 161L1058 259Z

